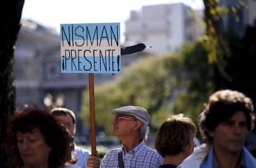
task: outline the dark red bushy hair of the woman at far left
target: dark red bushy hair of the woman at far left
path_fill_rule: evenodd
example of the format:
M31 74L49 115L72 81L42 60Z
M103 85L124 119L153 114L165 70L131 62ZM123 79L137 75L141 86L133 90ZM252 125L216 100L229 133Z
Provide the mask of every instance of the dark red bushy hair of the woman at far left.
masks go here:
M72 138L66 128L47 111L38 108L25 108L21 111L15 111L14 116L9 121L7 146L9 146L16 166L23 165L17 146L17 132L31 132L34 128L40 129L46 144L51 147L48 159L50 168L57 168L66 162L75 161L71 156Z

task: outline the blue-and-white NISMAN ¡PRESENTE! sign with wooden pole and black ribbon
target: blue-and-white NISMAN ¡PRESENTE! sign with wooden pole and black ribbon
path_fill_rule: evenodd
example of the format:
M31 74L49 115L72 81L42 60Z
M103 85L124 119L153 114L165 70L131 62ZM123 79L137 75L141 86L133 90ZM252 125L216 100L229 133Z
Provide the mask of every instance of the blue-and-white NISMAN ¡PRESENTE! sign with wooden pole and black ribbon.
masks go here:
M92 43L92 47L91 46L86 46L86 45L82 45L82 46L76 46L77 49L74 50L74 43L72 43L72 45L70 45L70 42L79 42L80 44L80 37L82 36L80 31L76 31L77 27L82 27L82 28L88 28L90 27L90 32L88 32L87 35L90 35L90 33L96 32L96 30L98 31L98 28L102 29L99 31L104 31L104 35L101 34L100 37L98 37L98 39L101 38L106 38L106 35L109 35L109 39L111 39L111 41L116 41L115 42L111 42L111 46L105 46L105 45L96 45L95 42ZM72 38L70 38L70 28L72 28ZM75 33L73 32L73 28ZM61 73L88 73L89 76L89 94L90 94L90 129L91 129L91 146L92 146L92 154L97 156L97 151L96 151L96 129L95 129L95 97L94 97L94 77L93 77L93 71L97 71L96 73L121 73L120 69L121 68L121 57L120 55L126 55L126 54L132 54L134 52L140 52L143 49L145 49L145 44L143 43L139 43L136 44L134 46L128 46L125 47L124 49L120 49L119 46L119 41L120 39L118 37L120 37L120 23L83 23L83 24L61 24ZM106 29L106 30L105 30ZM112 31L113 30L113 31ZM114 31L116 30L116 31ZM73 34L74 33L74 34ZM77 34L78 33L78 34ZM110 34L108 34L110 33ZM90 38L90 36L87 36L86 38ZM116 39L118 38L118 39ZM91 41L92 42L92 41ZM105 52L107 50L109 50L109 47L111 47L112 49L112 57L116 57L117 61L114 61L113 58L109 58L109 67L112 66L112 69L108 70L107 68L104 68L103 65L104 63L99 63L101 61L97 61L98 59L101 60L100 58L100 54L96 54L90 55L91 53L91 49L93 48L97 50L105 50ZM72 52L72 50L74 50L74 52ZM84 57L88 56L88 58L85 58L82 62L82 60L79 60L80 58L82 59L83 57L80 57L82 55L79 56L79 51L80 50L88 50L90 52L88 52L87 55L84 55ZM114 52L116 51L116 52ZM77 55L78 54L78 55ZM74 56L74 57L72 57ZM96 57L95 57L96 56ZM111 56L111 55L109 55ZM71 57L71 58L70 58ZM92 60L93 59L93 60ZM96 60L94 60L96 59ZM116 63L115 63L116 62ZM92 67L92 63L94 67ZM107 63L107 62L106 62ZM76 68L79 66L83 66L83 67L87 67L86 69L81 69L81 68ZM100 68L100 69L98 69ZM101 70L102 68L102 70ZM100 70L100 71L98 71ZM117 70L117 71L116 71ZM115 72L114 72L115 71Z

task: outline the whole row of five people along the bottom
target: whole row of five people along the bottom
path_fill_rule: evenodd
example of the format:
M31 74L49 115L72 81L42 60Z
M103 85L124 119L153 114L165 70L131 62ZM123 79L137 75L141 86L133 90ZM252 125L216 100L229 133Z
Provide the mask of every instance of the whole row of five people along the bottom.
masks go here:
M25 107L9 120L7 146L18 168L255 168L256 159L245 148L254 128L252 100L236 90L218 90L208 98L198 116L202 145L197 146L197 126L187 116L166 116L158 128L155 148L145 143L150 114L140 106L111 111L113 136L121 148L98 156L74 142L75 114L67 108L51 113Z

